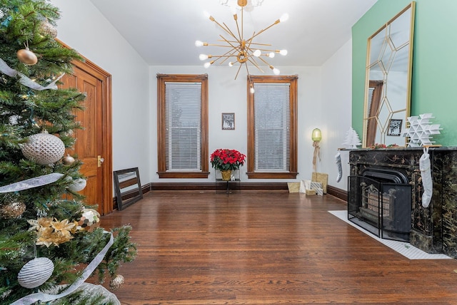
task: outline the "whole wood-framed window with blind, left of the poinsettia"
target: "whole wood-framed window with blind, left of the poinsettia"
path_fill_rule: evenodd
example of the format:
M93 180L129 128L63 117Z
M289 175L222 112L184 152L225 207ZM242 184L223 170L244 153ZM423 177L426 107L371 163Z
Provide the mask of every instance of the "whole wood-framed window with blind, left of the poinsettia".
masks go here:
M206 178L208 76L157 75L158 174Z

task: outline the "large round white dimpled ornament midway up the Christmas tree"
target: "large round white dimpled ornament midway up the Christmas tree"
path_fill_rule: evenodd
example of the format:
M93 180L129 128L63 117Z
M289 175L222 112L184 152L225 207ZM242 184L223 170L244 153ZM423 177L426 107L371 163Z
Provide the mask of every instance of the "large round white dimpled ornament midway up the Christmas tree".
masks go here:
M31 135L29 141L22 146L22 153L29 160L48 165L61 160L65 153L65 145L55 135L47 132L37 133Z

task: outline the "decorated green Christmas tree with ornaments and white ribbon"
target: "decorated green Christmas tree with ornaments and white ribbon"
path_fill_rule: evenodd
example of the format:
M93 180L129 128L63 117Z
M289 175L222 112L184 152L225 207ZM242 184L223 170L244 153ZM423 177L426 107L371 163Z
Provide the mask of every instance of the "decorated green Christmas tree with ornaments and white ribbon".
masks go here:
M83 58L56 41L57 19L45 0L0 0L0 304L108 304L80 285L119 288L136 257L131 227L100 226L81 162L64 156L86 96L58 88Z

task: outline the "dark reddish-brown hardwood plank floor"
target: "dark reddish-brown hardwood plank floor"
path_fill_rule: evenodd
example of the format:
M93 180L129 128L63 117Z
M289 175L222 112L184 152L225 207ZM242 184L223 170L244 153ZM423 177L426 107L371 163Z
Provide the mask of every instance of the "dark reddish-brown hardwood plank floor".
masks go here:
M457 260L409 260L284 191L149 192L102 226L131 224L121 304L457 304ZM108 283L105 284L106 286Z

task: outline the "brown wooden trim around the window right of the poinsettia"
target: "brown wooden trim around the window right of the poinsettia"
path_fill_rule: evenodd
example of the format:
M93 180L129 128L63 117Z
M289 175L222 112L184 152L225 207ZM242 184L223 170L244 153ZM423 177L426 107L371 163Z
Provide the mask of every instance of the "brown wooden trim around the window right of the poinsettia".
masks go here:
M290 108L291 108L291 132L290 132L290 145L291 151L289 155L289 170L288 172L255 172L254 171L254 94L250 93L251 86L254 83L289 83L290 84ZM298 76L248 76L247 81L247 94L248 94L248 153L247 165L248 169L246 175L248 179L296 179L297 172L297 148L298 148Z

